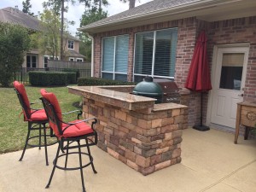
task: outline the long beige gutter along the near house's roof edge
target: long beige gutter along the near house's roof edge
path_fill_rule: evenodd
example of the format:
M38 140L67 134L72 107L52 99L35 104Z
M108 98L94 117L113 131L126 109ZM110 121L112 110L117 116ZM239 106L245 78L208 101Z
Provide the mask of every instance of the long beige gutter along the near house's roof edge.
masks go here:
M99 27L106 27L106 26L110 26L110 25L118 25L119 23L124 23L124 22L132 22L132 20L139 20L142 19L143 17L147 17L147 18L151 18L152 17L157 17L157 15L159 16L164 16L164 15L177 15L177 14L182 14L182 13L186 13L186 12L191 12L191 11L196 11L196 10L200 10L200 9L207 9L207 8L212 8L212 7L216 7L219 5L223 5L223 4L227 4L227 3L235 3L235 2L241 2L242 0L198 0L196 2L193 3L187 3L187 4L183 4L181 6L176 6L176 7L172 7L172 8L168 8L168 9L160 9L160 10L154 10L152 12L147 12L147 13L143 13L140 15L132 15L132 16L128 16L128 17L124 17L124 18L120 18L117 20L110 20L110 21L106 21L105 23L99 23L99 24L95 24L95 25L89 25L89 27L83 26L78 28L79 31L83 32L83 31L87 31L90 29L94 29L94 28L99 28ZM204 6L200 6L201 4L205 4ZM195 6L193 8L193 6ZM188 9L190 7L190 9ZM162 14L162 15L161 15Z

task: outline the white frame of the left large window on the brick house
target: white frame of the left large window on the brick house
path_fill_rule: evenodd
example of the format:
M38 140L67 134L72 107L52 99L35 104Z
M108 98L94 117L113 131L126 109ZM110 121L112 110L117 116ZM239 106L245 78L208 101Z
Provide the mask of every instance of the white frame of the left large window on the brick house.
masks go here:
M128 64L127 63L127 70L126 73L120 73L120 72L115 72L115 68L116 68L116 41L117 41L117 37L120 36L127 36L128 37L128 62L129 62L129 40L130 40L130 36L129 34L122 34L122 35L115 35L115 36L108 36L108 37L104 37L104 38L114 38L114 47L113 47L113 72L108 72L108 71L103 71L103 40L104 38L102 38L102 59L101 59L101 78L102 78L102 73L110 73L113 74L113 80L115 79L116 74L121 74L121 75L126 75L126 78L128 78ZM126 79L127 81L127 79Z

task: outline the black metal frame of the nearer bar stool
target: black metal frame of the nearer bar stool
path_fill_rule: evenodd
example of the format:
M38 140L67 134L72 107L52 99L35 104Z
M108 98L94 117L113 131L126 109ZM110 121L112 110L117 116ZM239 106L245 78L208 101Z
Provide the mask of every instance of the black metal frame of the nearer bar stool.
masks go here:
M83 136L79 136L79 137L68 137L68 138L61 137L58 140L59 146L58 146L58 149L57 149L55 160L53 161L53 169L52 169L52 172L51 172L50 177L49 177L49 182L47 183L47 185L45 187L46 189L49 188L49 185L50 185L50 183L52 181L52 178L54 176L54 173L55 173L55 168L65 170L65 171L80 170L81 181L82 181L82 189L83 189L83 192L85 192L83 168L86 167L86 166L91 166L92 171L94 173L97 173L96 169L95 169L95 166L93 164L93 157L90 154L90 146L93 146L93 145L97 144L97 132L94 129L94 126L97 123L97 119L96 118L84 119L84 120L79 120L75 123L67 123L67 122L61 121L60 119L58 119L58 116L55 113L55 108L46 99L44 99L44 97L42 97L40 99L43 102L44 109L45 109L45 112L47 114L47 117L48 117L49 121L51 121L52 123L57 125L58 131L61 135L63 135L63 132L66 131L68 129L68 127L70 127L71 125L75 125L75 124L79 124L79 123L82 123L82 122L88 122L90 120L93 120L92 123L91 123L91 129L93 130L92 133L86 134L86 135L83 135ZM78 110L76 110L76 111L78 111ZM76 111L73 111L73 112L76 112ZM73 113L73 112L70 112L70 113ZM78 119L79 119L79 115L81 115L81 113L82 112L79 111ZM64 130L61 129L60 122L67 125L67 127ZM92 140L91 137L94 137L94 140ZM81 140L85 140L85 144L81 145L81 143L80 143ZM78 144L75 145L75 146L71 146L71 144L74 143L74 142L77 142ZM65 145L65 143L67 143L67 144ZM83 148L83 147L87 148L87 153L81 152L81 148ZM69 151L69 149L74 149L74 148L79 148L79 151L78 152L70 152ZM60 150L62 152L64 152L64 150L66 150L66 153L65 154L60 154ZM72 168L67 167L67 158L68 158L69 154L79 154L79 166L78 167L72 167ZM83 163L82 163L82 154L85 154L85 155L89 156L89 160L90 160L89 163L83 165ZM58 159L63 157L63 156L66 157L65 166L58 166L57 165Z

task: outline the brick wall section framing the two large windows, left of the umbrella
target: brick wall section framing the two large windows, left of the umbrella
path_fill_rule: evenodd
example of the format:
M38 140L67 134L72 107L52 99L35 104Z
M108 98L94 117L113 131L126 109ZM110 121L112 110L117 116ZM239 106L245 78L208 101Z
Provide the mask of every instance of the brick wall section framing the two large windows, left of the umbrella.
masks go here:
M95 35L95 76L100 77L101 55L102 55L102 38L108 36L116 36L129 34L129 61L128 61L128 80L132 80L133 76L133 53L134 53L134 38L137 32L148 32L166 28L178 28L177 40L177 62L175 80L179 87L185 84L187 74L189 72L189 64L193 55L195 46L195 37L197 30L197 22L195 18L183 20L172 20L166 22L155 23L146 26L137 26L133 28L125 28L110 32L101 32Z

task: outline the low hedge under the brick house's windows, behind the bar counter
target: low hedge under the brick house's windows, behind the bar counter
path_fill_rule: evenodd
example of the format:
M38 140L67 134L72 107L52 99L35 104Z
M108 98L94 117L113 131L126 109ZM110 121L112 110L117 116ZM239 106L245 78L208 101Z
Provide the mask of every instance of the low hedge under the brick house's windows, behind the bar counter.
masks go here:
M93 86L93 85L133 85L136 84L134 82L124 82L117 80L109 80L109 79L100 79L100 78L79 78L78 85L79 86Z

